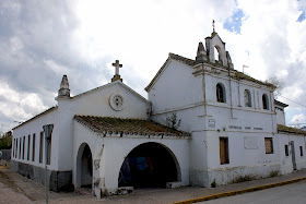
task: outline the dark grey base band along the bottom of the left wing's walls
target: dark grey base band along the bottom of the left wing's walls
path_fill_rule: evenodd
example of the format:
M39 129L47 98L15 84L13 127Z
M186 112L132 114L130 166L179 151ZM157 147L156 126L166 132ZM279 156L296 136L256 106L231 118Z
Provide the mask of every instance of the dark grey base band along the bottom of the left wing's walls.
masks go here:
M40 184L45 184L44 168L11 160L11 169ZM60 192L60 191L74 190L74 185L72 184L72 170L71 171L47 170L47 179L49 182L50 191Z

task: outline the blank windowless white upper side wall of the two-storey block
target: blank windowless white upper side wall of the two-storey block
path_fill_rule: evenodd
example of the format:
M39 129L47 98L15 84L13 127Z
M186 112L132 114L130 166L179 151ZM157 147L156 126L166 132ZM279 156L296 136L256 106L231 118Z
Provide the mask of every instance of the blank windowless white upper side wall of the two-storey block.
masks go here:
M195 69L170 60L149 92L152 111L172 111L203 103L201 77L192 75Z

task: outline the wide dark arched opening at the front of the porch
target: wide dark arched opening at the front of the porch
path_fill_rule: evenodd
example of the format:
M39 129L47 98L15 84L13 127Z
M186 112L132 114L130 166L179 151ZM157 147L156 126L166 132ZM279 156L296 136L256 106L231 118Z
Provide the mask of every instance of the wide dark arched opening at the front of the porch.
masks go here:
M118 187L165 188L180 180L179 165L173 153L162 144L144 143L133 148L121 166Z

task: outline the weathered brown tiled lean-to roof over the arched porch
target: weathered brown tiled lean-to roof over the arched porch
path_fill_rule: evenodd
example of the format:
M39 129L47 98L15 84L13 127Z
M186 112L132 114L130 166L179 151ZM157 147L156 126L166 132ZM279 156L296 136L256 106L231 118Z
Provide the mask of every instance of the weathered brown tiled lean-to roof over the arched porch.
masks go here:
M151 120L94 116L74 116L74 119L92 131L103 134L123 133L134 135L168 135L190 137L190 134L187 132L177 131Z

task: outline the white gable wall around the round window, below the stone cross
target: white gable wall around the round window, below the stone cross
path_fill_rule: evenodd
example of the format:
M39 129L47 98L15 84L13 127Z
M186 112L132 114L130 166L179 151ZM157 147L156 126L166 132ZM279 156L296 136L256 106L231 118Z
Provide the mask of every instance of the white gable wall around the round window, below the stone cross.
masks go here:
M109 106L111 94L120 94L125 99L125 108L120 111L114 110ZM128 86L117 81L105 86L98 87L89 93L75 96L72 99L59 100L59 112L61 121L61 143L59 148L59 168L61 170L72 169L73 146L73 117L80 116L99 116L116 118L137 118L148 119L150 103L133 93Z

